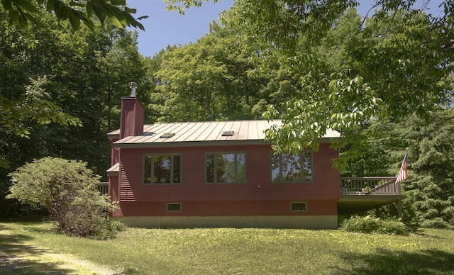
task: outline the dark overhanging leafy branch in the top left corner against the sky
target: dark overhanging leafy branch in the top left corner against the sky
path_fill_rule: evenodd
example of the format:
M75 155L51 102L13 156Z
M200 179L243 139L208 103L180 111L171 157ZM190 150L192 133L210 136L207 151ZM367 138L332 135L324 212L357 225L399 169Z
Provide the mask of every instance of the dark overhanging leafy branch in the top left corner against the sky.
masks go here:
M37 23L38 17L47 11L61 21L70 21L74 30L79 29L81 21L94 29L94 17L101 24L109 23L117 28L131 26L144 29L133 18L136 10L128 8L126 0L2 0L1 6L7 11L9 21L19 26Z

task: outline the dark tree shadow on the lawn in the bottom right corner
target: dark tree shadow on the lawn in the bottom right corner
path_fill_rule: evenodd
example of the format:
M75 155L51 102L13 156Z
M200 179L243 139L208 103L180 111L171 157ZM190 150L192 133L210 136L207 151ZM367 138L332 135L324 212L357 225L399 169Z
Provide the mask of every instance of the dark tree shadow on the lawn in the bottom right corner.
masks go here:
M439 249L395 252L379 249L375 253L345 253L342 258L350 269L336 274L453 274L454 254Z

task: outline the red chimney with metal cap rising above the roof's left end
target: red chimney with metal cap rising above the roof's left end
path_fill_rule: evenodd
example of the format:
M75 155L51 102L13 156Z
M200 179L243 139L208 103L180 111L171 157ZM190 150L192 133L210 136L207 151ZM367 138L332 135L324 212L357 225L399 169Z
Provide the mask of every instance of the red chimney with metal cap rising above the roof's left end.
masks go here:
M137 84L131 82L131 96L121 98L120 139L143 133L143 118L145 111L140 101L135 97Z

